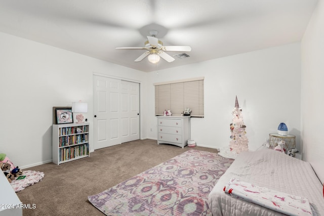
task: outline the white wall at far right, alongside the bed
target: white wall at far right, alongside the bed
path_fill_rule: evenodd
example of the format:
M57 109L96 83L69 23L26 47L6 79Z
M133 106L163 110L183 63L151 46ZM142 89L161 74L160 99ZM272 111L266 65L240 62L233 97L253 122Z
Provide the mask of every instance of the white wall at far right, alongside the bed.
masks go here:
M324 182L324 1L319 0L301 44L302 145L321 182Z

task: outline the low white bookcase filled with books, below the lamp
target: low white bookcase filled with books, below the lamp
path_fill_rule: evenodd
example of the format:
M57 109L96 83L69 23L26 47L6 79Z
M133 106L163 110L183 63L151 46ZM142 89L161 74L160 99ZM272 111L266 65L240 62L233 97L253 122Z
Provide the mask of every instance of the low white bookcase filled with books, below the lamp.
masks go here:
M53 163L89 157L89 123L53 124Z

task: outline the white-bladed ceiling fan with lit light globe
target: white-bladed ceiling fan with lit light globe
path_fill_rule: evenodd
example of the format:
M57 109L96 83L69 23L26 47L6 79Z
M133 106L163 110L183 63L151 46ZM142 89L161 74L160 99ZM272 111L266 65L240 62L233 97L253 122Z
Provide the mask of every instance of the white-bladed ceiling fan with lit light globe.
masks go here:
M146 56L151 63L157 63L160 57L167 62L173 62L175 59L167 54L165 51L181 51L190 52L190 46L163 46L163 42L158 40L155 36L156 30L150 30L150 35L147 36L147 40L144 42L145 47L117 47L117 50L147 50L140 57L135 59L135 62L142 61Z

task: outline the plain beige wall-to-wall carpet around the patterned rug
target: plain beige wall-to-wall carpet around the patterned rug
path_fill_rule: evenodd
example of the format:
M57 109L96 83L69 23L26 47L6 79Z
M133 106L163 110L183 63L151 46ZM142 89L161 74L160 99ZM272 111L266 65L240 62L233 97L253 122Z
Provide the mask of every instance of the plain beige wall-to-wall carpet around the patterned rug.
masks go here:
M90 153L90 157L61 165L47 163L30 167L43 171L41 182L17 192L24 204L23 215L103 215L88 196L128 180L189 149L217 153L216 149L157 145L155 140L137 140Z

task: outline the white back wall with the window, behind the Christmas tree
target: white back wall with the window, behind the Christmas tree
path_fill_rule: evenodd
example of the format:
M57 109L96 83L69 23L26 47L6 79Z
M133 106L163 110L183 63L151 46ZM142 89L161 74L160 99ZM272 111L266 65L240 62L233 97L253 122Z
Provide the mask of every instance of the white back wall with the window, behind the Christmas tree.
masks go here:
M296 135L299 147L300 71L300 44L296 43L151 72L147 86L147 135L156 139L153 83L204 76L205 118L191 118L191 139L197 145L228 146L237 95L250 150L260 148L269 139L269 133L277 132L280 122L285 122L289 133Z

